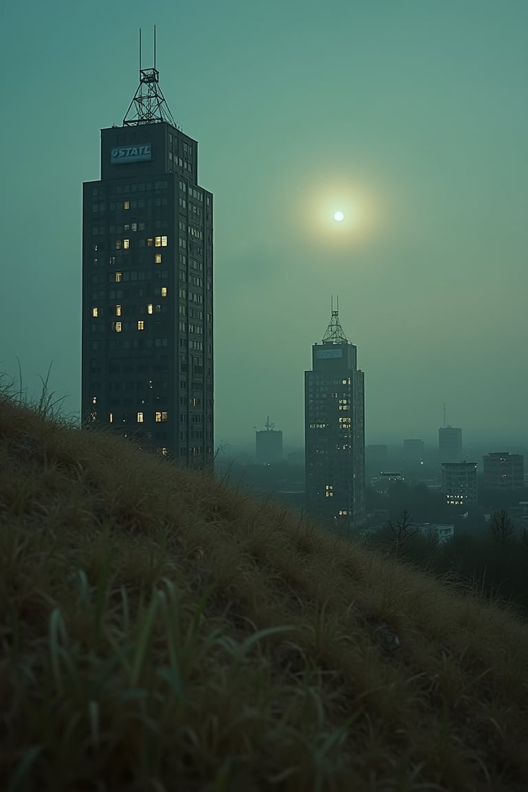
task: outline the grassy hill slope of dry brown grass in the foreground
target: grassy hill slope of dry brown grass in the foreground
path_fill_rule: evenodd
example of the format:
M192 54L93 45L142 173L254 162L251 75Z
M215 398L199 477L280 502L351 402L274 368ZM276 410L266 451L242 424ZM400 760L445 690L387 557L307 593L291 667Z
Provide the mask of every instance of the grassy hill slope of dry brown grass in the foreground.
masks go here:
M526 790L528 631L0 400L0 784Z

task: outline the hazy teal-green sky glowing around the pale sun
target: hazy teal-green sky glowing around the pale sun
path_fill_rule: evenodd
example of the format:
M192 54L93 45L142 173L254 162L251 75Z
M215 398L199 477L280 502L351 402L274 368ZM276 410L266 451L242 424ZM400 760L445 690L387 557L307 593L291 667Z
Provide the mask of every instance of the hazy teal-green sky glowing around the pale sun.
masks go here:
M216 442L302 440L330 295L367 442L528 434L526 0L2 2L0 371L80 392L81 185L137 38L215 193ZM336 210L342 224L332 221Z

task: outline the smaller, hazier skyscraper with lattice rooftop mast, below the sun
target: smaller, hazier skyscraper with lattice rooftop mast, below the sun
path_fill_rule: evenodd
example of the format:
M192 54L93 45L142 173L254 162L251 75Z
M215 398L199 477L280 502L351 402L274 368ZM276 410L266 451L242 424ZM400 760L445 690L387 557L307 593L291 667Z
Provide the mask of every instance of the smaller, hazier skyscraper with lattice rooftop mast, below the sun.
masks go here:
M365 405L357 348L332 310L305 372L306 505L344 527L365 516Z

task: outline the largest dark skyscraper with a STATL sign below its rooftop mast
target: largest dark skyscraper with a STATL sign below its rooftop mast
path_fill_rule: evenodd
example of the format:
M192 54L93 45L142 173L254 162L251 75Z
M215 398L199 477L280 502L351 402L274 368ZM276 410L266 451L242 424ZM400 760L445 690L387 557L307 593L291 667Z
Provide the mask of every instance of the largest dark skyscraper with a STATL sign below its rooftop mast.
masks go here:
M82 216L83 418L212 463L213 196L155 67L123 125L101 130Z

